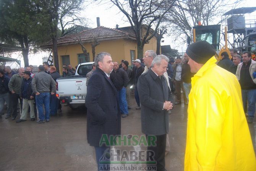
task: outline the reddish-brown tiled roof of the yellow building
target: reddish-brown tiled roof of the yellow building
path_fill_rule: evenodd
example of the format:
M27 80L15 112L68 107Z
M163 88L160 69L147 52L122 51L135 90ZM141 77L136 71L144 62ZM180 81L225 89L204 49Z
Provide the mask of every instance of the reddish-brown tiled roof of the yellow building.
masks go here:
M57 45L70 45L70 44L77 44L77 41L81 39L81 41L84 42L93 42L94 38L97 38L97 40L115 40L115 39L121 39L121 38L128 38L131 40L136 40L136 37L133 33L127 32L124 30L118 30L118 29L110 29L107 27L96 27L94 29L84 30L79 32L78 34L72 34L67 35L64 37L60 37L57 40ZM51 48L52 47L52 41L47 42L40 46L41 48Z

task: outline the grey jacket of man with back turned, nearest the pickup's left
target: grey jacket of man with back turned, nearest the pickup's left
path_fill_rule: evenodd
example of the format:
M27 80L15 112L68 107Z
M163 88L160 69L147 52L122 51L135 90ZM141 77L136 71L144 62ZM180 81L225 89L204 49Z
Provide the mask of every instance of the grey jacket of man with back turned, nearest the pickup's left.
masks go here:
M32 90L34 93L55 93L56 83L50 74L39 71L32 80Z

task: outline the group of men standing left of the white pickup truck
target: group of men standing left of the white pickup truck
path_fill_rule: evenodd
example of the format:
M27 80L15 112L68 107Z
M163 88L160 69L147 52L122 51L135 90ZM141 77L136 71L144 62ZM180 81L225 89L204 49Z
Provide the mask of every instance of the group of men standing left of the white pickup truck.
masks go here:
M21 67L18 73L11 70L10 66L0 69L0 118L4 114L5 103L6 119L15 120L20 113L16 123L26 121L28 113L31 121L36 120L38 113L37 123L44 123L50 121L50 116L62 112L60 101L55 96L56 80L61 77L60 74L48 62L40 65L36 74L33 73L33 68L32 65L25 69ZM63 68L68 69L69 73L71 70L71 75L75 74L71 65Z

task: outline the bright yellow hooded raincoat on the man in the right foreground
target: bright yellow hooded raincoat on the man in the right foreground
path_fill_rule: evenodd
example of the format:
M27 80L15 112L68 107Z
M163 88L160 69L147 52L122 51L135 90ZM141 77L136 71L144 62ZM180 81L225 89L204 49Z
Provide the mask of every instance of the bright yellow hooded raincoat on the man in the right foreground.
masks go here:
M213 56L192 78L185 171L256 171L256 159L235 75Z

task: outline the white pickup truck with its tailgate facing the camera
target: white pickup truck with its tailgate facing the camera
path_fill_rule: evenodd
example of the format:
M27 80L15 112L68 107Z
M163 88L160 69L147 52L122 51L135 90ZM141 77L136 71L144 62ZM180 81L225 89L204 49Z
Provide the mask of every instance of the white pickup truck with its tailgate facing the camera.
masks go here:
M92 70L92 63L79 64L75 75L57 79L56 96L62 104L68 104L71 109L85 104L86 74Z

